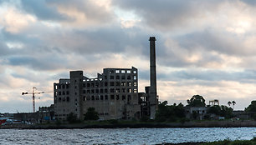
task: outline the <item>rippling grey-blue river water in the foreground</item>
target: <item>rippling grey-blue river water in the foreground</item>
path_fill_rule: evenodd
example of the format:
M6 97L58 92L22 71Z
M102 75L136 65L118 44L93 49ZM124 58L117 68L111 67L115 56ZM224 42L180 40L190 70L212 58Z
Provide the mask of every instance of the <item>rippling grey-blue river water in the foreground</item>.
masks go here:
M0 129L0 144L156 144L250 140L256 128Z

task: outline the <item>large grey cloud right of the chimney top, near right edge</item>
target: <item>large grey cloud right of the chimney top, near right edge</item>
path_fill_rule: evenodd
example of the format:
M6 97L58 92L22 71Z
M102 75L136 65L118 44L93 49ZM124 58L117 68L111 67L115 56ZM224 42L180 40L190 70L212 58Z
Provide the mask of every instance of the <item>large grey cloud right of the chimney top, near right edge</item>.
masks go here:
M190 51L206 49L236 56L254 55L256 52L243 44L243 37L228 32L219 32L216 29L187 33L182 37L177 37L177 41L181 47L186 47Z

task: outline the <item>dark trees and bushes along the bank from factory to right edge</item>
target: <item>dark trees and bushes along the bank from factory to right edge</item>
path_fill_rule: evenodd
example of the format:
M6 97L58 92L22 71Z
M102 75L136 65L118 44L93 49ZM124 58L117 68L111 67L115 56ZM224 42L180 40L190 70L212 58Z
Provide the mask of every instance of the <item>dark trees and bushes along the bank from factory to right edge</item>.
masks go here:
M225 117L225 119L230 119L233 116L233 108L228 106L206 106L205 99L200 95L194 95L191 99L187 100L187 107L207 107L207 114L204 115L204 120L200 121L209 121L211 120L211 114L219 117ZM252 101L251 104L245 108L245 112L250 112L250 118L256 120L256 101ZM197 121L198 117L197 112L192 113L191 118L186 117L186 110L182 103L178 105L176 103L172 105L168 105L167 101L161 102L158 105L158 110L156 111L156 118L155 120L150 119L149 117L141 117L140 120L133 119L131 121L125 120L108 120L108 121L98 121L99 114L95 111L94 107L89 107L86 114L84 114L84 121L80 121L74 113L69 113L67 117L67 122L69 123L101 123L101 124L116 124L116 123L138 123L138 122L147 122L147 123L154 123L154 122L191 122ZM60 122L58 122L60 123Z

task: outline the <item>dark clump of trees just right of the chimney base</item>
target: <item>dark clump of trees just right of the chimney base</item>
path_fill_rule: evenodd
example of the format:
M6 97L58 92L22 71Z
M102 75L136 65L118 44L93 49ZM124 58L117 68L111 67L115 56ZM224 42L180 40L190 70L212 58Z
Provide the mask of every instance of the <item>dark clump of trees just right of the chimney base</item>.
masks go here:
M186 110L187 107L187 110ZM211 116L219 116L225 118L233 117L233 108L227 106L207 106L205 99L200 95L194 95L187 100L187 106L182 103L178 105L168 105L167 101L161 102L156 111L156 122L184 122L189 120L197 120L203 114L203 119L211 119ZM205 107L206 113L200 114L197 111L190 112L191 107ZM186 112L187 111L187 112ZM186 117L187 114L187 117Z

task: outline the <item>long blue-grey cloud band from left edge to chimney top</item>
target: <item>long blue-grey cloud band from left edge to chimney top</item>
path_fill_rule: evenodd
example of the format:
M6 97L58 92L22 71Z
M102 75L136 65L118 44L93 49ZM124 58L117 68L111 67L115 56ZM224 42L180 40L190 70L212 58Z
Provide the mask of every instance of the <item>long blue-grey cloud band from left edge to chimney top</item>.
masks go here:
M42 30L43 31L43 30ZM48 30L46 30L48 31ZM24 47L16 50L20 54L41 54L54 53L77 53L81 54L103 54L131 52L137 54L138 50L142 53L148 52L148 34L137 28L122 29L99 28L95 31L73 30L63 31L56 28L53 32L42 33L40 37L29 33L13 34L3 29L3 42L20 42ZM131 36L133 33L135 36ZM129 48L128 48L129 47ZM127 49L127 50L125 50ZM136 52L137 51L137 52Z

